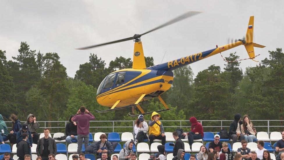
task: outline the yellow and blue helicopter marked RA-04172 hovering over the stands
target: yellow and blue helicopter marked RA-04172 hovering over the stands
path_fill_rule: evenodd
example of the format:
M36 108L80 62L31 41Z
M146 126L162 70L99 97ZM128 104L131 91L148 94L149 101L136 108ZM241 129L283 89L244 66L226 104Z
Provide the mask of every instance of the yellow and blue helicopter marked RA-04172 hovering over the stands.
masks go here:
M172 72L173 70L194 63L196 61L200 61L215 54L224 52L231 48L235 48L239 45L244 45L248 53L249 59L256 61L254 47L264 48L265 46L253 43L254 16L251 16L249 18L246 36L242 39L235 40L235 42L220 47L216 45L216 48L213 48L211 50L191 54L180 59L175 59L166 63L146 68L141 36L160 29L162 27L173 24L175 22L178 22L180 20L183 20L185 18L197 15L199 13L201 12L189 11L143 34L134 34L134 36L129 38L78 48L80 50L86 50L112 43L118 43L129 40L134 41L132 68L121 69L110 73L104 78L104 80L102 80L97 89L97 102L102 106L110 107L110 109L95 111L98 113L103 113L136 106L142 115L152 114L152 112L146 113L141 107L140 103L155 97L159 99L159 101L163 104L165 108L156 112L167 111L171 108L169 108L164 102L164 100L161 98L161 94L171 88L174 79ZM131 113L128 113L128 115L132 117L138 116L133 115Z

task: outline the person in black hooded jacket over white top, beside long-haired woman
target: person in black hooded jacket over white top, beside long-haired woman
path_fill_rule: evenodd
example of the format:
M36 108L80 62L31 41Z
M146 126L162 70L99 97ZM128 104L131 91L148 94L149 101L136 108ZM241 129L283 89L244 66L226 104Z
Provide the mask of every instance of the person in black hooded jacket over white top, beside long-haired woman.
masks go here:
M244 135L241 132L242 124L242 116L239 113L235 114L235 120L230 124L229 131L229 137L232 139L232 144L237 142L237 139L240 141L244 140Z

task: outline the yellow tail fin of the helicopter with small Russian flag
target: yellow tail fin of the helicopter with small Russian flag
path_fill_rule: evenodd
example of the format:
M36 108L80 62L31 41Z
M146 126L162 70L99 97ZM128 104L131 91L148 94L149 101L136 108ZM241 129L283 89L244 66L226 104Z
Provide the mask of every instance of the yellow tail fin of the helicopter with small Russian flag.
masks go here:
M246 48L246 51L248 52L249 58L252 59L253 61L256 61L254 60L255 53L254 53L253 47L264 48L265 46L257 44L257 43L253 43L253 28L254 28L253 20L254 20L254 16L251 16L248 21L248 29L246 31L246 38L245 38L246 43L244 44L244 46Z

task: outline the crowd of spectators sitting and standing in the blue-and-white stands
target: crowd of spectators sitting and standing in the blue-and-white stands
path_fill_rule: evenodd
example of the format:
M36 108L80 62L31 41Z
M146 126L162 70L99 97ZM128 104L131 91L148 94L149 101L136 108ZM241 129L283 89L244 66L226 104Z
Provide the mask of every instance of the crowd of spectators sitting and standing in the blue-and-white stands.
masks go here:
M154 143L154 140L161 140L161 145L157 146L158 153L151 154L149 159L166 160L167 154L165 151L166 135L164 126L161 122L162 117L157 112L152 112L151 119L148 123L145 121L143 115L139 115L134 125L134 138L125 143L118 155L113 155L114 149L117 143L112 143L107 140L105 134L100 135L100 141L88 144L89 142L89 127L90 121L95 117L84 106L81 106L75 115L71 115L69 123L65 126L65 136L61 137L66 140L66 144L69 145L76 141L78 143L77 154L72 155L73 160L90 160L85 158L85 154L94 154L96 159L99 160L135 160L137 154L134 152L135 146L139 143L148 141L150 145ZM243 119L243 120L242 120ZM17 157L19 160L31 160L31 147L33 144L36 146L36 154L38 159L41 160L55 160L57 153L57 147L55 139L50 137L50 129L44 129L44 137L40 138L40 134L37 130L40 128L40 124L36 121L36 117L33 114L29 114L26 118L26 122L21 124L16 115L10 116L12 121L12 129L8 131L8 127L0 114L0 143L4 144L9 140L11 146L16 144ZM184 139L187 136L188 144L190 148L194 143L194 140L200 140L204 138L203 126L195 117L190 117L191 130L187 133L180 129L176 129L172 133L174 143L173 146L173 160L184 159L185 143ZM148 132L149 131L149 132ZM149 133L149 134L147 134ZM227 142L221 142L222 136L228 136L231 139L232 145L240 141L241 147L237 149L236 154L230 149L230 144ZM229 131L221 131L220 134L214 135L214 140L207 145L201 145L199 152L196 155L191 154L189 159L191 160L271 160L270 152L264 148L265 142L262 140L257 141L258 150L252 152L247 147L249 142L254 142L256 139L257 131L251 122L250 118L245 115L243 118L240 114L235 114L234 121L230 124ZM169 136L169 135L167 135ZM85 154L82 153L82 145L84 143ZM275 147L278 154L277 160L284 160L284 131L282 132L282 139L278 140ZM113 156L111 156L113 155ZM3 160L13 160L8 152L5 152ZM0 159L0 160L2 160Z

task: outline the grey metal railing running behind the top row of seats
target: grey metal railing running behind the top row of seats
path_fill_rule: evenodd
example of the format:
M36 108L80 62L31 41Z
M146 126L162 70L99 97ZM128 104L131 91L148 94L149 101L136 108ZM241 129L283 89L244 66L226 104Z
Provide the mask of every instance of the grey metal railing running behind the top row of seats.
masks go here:
M52 133L65 132L65 126L69 121L37 121L40 123L39 133L43 132L44 128L50 128ZM189 131L191 124L189 120L162 120L165 131L173 132L177 128L182 128L184 131ZM200 120L203 125L204 132L217 133L221 129L229 131L232 120ZM256 130L267 132L268 135L272 131L283 131L284 120L251 120ZM11 122L6 122L11 123ZM132 132L134 133L135 121L90 121L90 133L96 132ZM11 127L8 127L9 129Z

